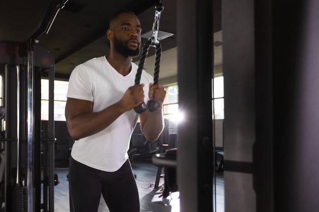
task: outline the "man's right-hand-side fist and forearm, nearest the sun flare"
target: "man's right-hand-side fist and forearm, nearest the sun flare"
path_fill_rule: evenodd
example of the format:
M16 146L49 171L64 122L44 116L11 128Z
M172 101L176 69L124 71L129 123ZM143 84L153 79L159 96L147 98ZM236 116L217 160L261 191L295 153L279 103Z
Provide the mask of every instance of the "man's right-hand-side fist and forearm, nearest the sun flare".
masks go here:
M159 108L154 112L146 110L140 114L141 130L145 138L149 141L156 140L164 129L163 104L166 96L164 87L160 84L149 84L149 100L159 104Z

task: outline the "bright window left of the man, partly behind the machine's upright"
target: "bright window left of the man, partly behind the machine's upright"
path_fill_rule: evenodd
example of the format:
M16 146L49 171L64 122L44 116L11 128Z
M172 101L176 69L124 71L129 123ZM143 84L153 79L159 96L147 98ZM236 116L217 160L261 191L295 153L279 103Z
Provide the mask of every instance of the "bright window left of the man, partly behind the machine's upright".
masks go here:
M66 120L64 115L66 105L67 81L54 82L54 120ZM49 111L49 80L41 79L41 120L48 120Z

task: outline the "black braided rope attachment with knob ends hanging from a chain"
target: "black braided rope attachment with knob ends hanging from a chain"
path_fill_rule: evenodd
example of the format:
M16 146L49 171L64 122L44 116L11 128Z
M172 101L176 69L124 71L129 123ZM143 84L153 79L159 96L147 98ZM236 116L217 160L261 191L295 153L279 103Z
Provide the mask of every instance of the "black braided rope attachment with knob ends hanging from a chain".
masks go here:
M161 62L161 56L162 56L162 46L161 43L159 43L157 39L158 29L159 29L159 19L161 19L161 12L164 10L164 6L161 3L161 1L155 6L155 16L154 16L154 23L153 23L153 33L152 37L148 39L148 41L144 44L141 58L139 62L139 68L137 70L136 76L135 76L135 84L140 84L142 71L145 64L145 59L149 50L150 46L155 47L155 67L154 67L154 84L158 83L158 76L159 76L159 63ZM141 103L140 105L134 107L135 112L137 113L143 113L146 109L148 109L150 112L154 112L159 108L159 104L155 101L149 100L147 104L145 102Z

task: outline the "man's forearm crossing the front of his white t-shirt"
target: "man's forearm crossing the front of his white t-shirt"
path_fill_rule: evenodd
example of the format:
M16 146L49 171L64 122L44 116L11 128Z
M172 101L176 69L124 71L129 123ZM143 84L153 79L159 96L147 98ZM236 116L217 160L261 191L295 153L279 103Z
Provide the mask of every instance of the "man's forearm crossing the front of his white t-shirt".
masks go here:
M110 126L124 112L125 110L119 107L119 103L115 103L100 112L68 118L69 133L75 140L94 135Z

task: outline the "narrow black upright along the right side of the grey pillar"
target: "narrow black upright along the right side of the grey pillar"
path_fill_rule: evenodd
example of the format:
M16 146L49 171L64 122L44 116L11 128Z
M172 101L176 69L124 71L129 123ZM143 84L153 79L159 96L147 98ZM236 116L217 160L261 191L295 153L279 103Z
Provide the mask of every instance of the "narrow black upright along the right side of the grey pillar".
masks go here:
M271 1L255 1L256 140L253 149L256 211L274 211Z

